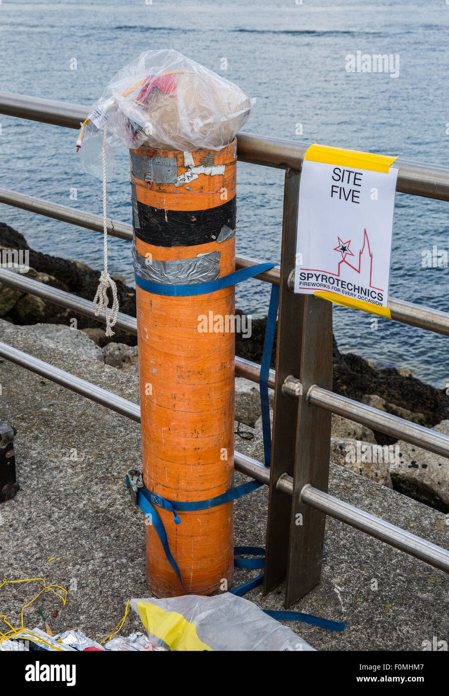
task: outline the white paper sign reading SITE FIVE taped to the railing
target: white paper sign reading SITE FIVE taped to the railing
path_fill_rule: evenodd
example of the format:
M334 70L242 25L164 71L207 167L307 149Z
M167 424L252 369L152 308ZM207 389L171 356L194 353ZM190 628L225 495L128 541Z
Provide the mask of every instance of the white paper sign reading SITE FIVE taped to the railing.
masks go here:
M393 167L385 173L304 160L294 292L387 306L396 179Z

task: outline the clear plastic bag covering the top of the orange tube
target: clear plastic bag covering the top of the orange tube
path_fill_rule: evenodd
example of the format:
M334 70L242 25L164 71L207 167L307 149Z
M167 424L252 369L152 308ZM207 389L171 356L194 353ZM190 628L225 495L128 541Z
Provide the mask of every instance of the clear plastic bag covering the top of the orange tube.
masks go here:
M113 149L220 150L233 141L255 100L237 85L173 49L147 51L120 70L93 105L81 148L84 167L101 177L102 128Z

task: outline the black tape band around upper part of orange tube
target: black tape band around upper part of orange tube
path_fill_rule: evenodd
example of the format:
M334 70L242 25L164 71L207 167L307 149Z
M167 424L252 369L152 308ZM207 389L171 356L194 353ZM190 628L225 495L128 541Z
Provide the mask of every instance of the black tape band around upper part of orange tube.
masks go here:
M207 210L167 210L137 201L137 239L154 246L194 246L218 239L223 227L235 229L237 196Z

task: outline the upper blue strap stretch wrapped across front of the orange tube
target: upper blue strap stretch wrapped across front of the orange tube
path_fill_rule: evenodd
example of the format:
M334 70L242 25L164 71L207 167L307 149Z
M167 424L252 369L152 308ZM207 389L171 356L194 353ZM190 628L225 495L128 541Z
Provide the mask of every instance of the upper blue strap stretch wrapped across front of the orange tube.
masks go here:
M145 278L141 278L141 276L136 273L134 273L134 276L136 278L136 285L139 285L141 290L146 290L146 292L152 292L155 295L166 295L168 297L188 297L190 295L204 295L209 292L215 292L216 290L222 290L223 287L230 287L230 285L242 283L242 280L248 280L248 278L258 276L264 271L269 271L269 269L274 266L276 266L276 264L271 262L260 263L255 266L239 269L239 271L233 271L233 273L227 276L216 278L216 280L210 280L208 283L197 283L196 285L164 285L163 283L151 283L150 280L145 280Z

